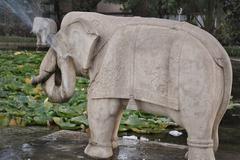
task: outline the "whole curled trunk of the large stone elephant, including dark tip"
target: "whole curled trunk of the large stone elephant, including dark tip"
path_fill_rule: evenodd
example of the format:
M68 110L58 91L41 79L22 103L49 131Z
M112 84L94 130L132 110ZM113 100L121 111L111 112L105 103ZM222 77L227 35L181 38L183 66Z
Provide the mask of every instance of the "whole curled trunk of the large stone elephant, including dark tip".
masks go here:
M32 84L41 83L51 102L66 102L73 93L76 73L71 57L59 58L53 48L44 57L39 75L32 78Z

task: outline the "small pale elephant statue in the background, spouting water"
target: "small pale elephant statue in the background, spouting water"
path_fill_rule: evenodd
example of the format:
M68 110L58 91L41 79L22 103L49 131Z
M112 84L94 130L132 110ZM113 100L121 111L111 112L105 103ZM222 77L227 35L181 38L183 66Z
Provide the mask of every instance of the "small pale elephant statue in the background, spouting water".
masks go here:
M47 46L48 36L57 33L57 24L50 18L35 17L31 32L37 36L37 46Z

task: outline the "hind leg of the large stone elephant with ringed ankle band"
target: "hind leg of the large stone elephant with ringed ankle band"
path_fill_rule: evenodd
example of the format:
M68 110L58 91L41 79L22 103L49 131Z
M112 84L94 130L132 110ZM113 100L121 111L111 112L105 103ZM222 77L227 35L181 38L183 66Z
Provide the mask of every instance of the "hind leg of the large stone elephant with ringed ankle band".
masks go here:
M212 107L212 103L208 102L201 101L197 105L184 103L186 108L180 111L183 126L188 133L188 160L215 160L213 127L217 107Z

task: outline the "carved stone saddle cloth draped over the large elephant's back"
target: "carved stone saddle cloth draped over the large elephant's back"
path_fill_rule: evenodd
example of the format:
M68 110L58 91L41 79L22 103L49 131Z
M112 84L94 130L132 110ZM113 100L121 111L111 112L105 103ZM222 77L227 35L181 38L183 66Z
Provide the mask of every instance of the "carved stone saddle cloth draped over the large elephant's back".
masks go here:
M154 25L129 25L114 33L89 88L91 98L124 98L179 109L183 34Z

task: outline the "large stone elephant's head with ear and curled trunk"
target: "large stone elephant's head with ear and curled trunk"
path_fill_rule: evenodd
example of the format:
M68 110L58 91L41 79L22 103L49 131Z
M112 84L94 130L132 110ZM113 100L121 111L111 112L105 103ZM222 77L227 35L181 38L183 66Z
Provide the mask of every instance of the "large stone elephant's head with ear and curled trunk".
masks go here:
M74 93L76 76L86 73L91 66L98 38L96 30L83 19L60 29L51 38L51 48L32 84L43 84L51 102L68 101Z

